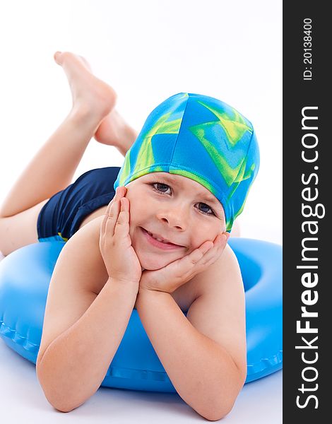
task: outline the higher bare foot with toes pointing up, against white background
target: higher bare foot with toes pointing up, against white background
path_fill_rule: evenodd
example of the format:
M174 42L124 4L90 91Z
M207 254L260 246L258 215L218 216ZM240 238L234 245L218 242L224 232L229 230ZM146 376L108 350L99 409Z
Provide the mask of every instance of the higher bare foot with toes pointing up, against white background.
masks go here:
M54 60L66 73L74 110L83 108L100 119L111 112L117 94L111 86L93 75L88 61L70 52L56 52Z

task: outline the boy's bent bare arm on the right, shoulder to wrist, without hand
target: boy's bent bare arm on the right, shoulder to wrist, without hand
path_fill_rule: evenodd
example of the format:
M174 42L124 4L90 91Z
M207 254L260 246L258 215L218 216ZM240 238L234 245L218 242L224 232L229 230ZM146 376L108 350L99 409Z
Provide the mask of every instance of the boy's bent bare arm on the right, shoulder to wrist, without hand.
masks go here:
M229 246L202 272L187 317L165 292L139 291L136 307L179 396L208 420L227 415L247 375L244 288Z

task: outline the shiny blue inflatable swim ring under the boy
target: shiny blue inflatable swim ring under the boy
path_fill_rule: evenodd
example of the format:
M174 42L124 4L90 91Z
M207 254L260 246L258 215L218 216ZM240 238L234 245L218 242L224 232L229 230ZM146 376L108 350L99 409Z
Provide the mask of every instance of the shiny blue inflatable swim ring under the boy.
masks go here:
M283 365L282 247L242 237L230 238L229 244L246 295L247 383ZM32 363L40 348L49 281L63 247L64 242L39 242L0 262L0 336ZM136 310L101 386L176 392Z

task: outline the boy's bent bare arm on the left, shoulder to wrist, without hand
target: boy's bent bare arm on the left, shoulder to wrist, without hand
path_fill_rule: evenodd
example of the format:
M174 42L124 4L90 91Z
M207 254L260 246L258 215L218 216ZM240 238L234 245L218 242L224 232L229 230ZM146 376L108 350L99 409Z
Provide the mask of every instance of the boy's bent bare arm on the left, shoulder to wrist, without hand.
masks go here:
M66 242L49 285L36 372L59 411L81 406L100 387L138 292L134 283L107 278L99 228L96 218ZM106 281L98 295L96 281Z

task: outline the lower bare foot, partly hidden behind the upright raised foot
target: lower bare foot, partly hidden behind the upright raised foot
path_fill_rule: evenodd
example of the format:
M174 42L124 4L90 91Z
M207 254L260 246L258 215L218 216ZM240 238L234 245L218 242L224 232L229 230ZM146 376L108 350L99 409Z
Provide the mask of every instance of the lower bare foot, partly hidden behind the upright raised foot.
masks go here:
M137 137L136 131L131 128L117 110L113 109L107 117L105 117L97 131L95 131L95 140L102 144L115 146L120 153L126 155Z

